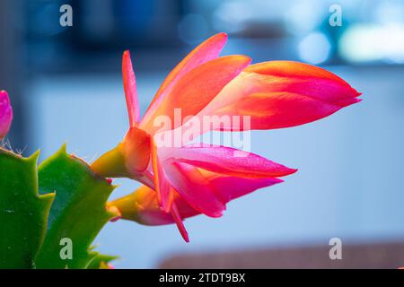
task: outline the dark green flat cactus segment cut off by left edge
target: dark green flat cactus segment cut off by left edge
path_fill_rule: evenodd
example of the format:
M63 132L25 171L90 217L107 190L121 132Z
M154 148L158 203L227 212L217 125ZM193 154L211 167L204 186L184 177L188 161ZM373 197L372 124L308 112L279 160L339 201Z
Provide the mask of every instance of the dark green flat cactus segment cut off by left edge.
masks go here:
M38 156L0 149L0 268L31 268L45 237L55 195L38 195Z

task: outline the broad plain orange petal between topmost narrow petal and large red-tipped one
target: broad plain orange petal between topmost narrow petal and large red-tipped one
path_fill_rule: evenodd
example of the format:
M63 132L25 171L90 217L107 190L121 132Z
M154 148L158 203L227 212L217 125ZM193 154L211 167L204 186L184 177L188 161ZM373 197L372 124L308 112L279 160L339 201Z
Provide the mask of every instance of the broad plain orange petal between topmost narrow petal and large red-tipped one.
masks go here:
M195 116L201 109L215 98L222 91L224 86L240 74L250 64L250 57L233 55L218 57L190 71L180 78L171 88L169 94L164 97L158 107L154 110L145 122L142 121L141 128L150 135L154 135L159 129L154 119L158 116L165 116L171 119L170 129L182 124L174 121L174 109L180 109L181 118Z

